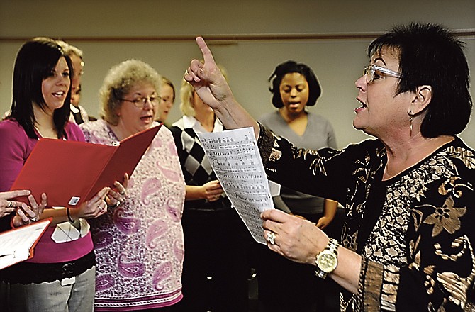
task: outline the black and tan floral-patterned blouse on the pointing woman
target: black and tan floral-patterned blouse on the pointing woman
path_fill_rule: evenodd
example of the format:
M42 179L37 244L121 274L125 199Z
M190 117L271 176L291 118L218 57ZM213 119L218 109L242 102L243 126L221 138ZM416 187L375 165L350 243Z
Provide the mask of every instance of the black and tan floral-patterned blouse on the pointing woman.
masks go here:
M341 311L442 312L474 306L469 294L475 279L475 157L462 140L454 138L387 181L381 181L386 152L379 140L339 152L309 152L262 127L259 148L270 179L345 206L342 245L361 249L363 261L358 292L340 296ZM374 187L381 202L371 201ZM375 205L381 213L358 246Z

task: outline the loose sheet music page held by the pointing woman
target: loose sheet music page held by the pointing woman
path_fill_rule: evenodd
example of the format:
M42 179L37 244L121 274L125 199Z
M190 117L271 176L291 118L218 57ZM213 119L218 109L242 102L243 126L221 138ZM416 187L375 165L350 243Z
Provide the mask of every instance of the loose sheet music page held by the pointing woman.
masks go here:
M269 182L252 128L197 133L221 186L252 237L262 236L260 213L274 208Z

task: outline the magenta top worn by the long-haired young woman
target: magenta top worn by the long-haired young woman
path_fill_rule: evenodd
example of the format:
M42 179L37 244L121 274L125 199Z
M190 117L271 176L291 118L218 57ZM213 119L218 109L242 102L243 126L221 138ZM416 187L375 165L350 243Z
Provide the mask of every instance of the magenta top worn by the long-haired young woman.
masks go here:
M41 138L39 133L36 134ZM65 126L65 140L84 142L84 134L76 124L68 122ZM29 138L26 135L25 130L17 121L0 122L0 191L9 191L37 142L37 139ZM55 157L55 155L51 155L51 157ZM65 172L65 181L67 181L66 175L67 172ZM47 179L47 177L43 177L43 179ZM82 223L86 225L86 222ZM81 234L70 235L69 241L62 243L59 242L65 236L61 235L64 231L57 228L57 225L47 228L35 247L34 257L28 262L68 262L87 255L93 250L91 233L87 226L82 226ZM55 235L56 241L53 240L53 235Z

